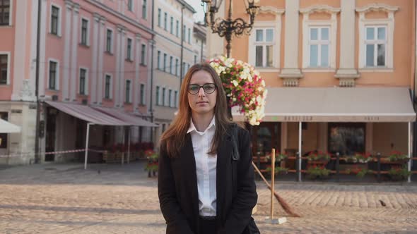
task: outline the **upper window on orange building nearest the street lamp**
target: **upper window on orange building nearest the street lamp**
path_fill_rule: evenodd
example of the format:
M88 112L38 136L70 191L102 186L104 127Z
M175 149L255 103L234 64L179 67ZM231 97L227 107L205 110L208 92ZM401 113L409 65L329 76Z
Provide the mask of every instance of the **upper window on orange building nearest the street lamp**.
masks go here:
M274 29L255 30L255 66L274 66Z

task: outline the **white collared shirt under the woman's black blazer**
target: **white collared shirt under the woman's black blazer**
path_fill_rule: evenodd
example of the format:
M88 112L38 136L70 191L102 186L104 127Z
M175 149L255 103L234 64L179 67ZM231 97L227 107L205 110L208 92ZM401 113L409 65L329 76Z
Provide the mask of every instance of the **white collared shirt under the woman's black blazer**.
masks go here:
M204 132L197 131L190 122L187 133L190 133L194 158L196 160L197 187L199 190L199 213L201 216L216 216L216 166L217 154L208 154L211 141L216 132L215 118Z

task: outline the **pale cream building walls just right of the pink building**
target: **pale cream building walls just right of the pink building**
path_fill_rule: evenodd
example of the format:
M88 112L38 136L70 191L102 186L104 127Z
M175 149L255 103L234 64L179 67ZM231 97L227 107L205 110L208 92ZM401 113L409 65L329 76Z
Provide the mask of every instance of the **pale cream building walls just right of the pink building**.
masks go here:
M155 30L155 49L153 54L153 64L155 73L153 75L153 110L155 123L159 127L155 130L155 145L158 146L160 135L163 133L163 125L165 130L170 125L173 118L175 118L175 91L177 91L177 104L180 97L180 68L181 68L181 10L182 1L177 0L158 0L155 1L154 12L154 30ZM160 11L159 11L160 10ZM159 13L160 12L160 13ZM167 27L165 29L165 13L167 15ZM188 6L183 10L183 23L186 27L183 42L183 67L182 77L187 73L189 67L194 65L194 55L198 56L198 51L194 50L195 39L193 34L194 27L194 10ZM160 16L159 16L160 15ZM160 19L159 19L160 17ZM172 30L171 30L171 21ZM177 36L177 20L179 24L179 31ZM189 38L189 40L188 40ZM158 67L158 51L159 67ZM166 63L164 67L164 54L166 54ZM170 57L172 56L172 68L170 70ZM178 59L177 74L175 74L175 60ZM156 87L160 87L159 103L157 103ZM162 103L163 88L165 88L165 104ZM172 90L172 104L169 105L169 90Z

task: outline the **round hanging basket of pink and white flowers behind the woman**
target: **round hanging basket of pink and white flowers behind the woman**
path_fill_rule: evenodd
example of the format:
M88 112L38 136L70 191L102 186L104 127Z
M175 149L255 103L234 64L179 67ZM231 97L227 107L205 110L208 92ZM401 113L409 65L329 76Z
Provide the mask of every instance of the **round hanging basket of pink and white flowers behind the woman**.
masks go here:
M264 118L267 90L265 81L249 63L235 58L211 58L209 60L223 82L229 106L240 106L240 112L250 125L259 125Z

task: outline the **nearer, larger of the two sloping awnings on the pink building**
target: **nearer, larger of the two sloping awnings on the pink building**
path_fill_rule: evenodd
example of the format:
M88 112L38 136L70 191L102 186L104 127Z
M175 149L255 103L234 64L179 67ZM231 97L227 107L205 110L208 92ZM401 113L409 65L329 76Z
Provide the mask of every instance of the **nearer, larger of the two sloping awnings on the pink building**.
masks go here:
M94 123L98 125L129 125L129 123L124 123L117 118L109 116L100 111L96 111L90 106L80 105L80 104L70 104L64 102L56 101L45 101L50 106L53 106L59 111L74 116L76 118L87 121L88 123Z

